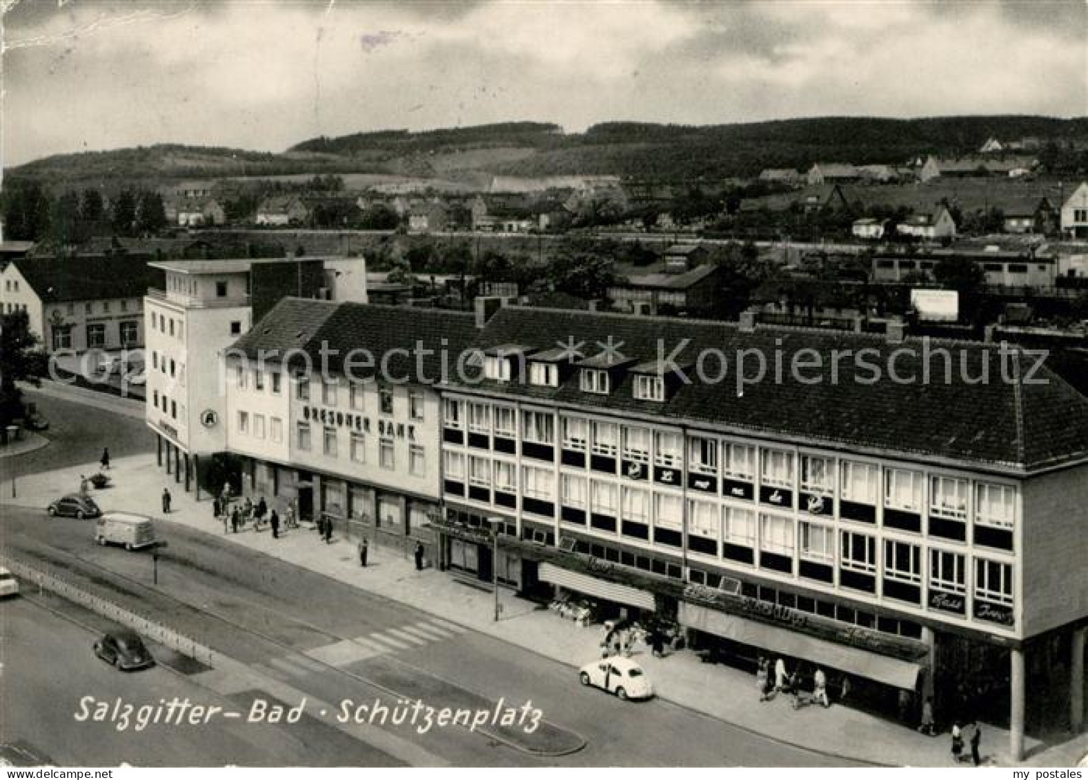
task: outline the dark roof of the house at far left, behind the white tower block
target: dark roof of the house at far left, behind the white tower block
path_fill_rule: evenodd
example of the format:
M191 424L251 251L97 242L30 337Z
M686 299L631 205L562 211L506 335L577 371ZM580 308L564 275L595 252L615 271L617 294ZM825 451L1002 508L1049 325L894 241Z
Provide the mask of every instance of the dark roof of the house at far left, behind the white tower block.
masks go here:
M163 287L161 271L146 256L21 258L12 261L44 304L107 298L143 298Z

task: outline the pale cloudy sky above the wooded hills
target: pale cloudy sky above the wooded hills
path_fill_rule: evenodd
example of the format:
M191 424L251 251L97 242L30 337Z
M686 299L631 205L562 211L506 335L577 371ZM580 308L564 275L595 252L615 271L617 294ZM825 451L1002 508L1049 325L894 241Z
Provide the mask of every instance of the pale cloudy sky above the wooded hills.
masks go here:
M1088 3L0 0L3 165L385 128L1088 115Z

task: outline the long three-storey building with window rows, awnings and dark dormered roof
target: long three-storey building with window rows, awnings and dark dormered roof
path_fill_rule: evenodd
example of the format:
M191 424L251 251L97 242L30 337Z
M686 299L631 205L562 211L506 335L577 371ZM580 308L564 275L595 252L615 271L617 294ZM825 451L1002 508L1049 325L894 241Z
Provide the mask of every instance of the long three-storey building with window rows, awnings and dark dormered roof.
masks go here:
M1027 356L515 308L478 346L443 388L445 565L998 703L1013 753L1055 696L1083 720L1088 400Z

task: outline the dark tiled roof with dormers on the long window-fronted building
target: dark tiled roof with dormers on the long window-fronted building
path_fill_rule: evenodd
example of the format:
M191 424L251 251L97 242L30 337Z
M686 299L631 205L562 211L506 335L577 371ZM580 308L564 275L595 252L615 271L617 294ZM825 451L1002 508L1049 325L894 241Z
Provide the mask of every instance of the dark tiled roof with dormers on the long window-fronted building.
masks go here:
M873 382L869 366L886 368L897 349L895 369L900 376L923 376L924 355L919 339L890 344L883 336L801 329L767 329L743 332L735 324L693 320L623 317L576 311L506 308L483 329L480 346L515 341L552 348L560 344L584 343L593 354L597 343L613 344L628 359L640 362L669 357L679 349L679 366L696 364L705 350L721 350L729 374L724 382L677 383L675 394L664 403L636 400L632 379L626 375L607 396L588 395L577 379L559 387L537 387L510 383L504 392L546 398L552 401L603 406L619 412L667 414L670 418L703 421L727 430L753 435L804 439L844 448L900 453L904 456L947 458L992 465L1014 470L1033 470L1050 465L1088 458L1088 399L1074 391L1048 368L1031 382L1002 381L1002 356L998 346L973 342L932 342L930 350L948 349L953 356L952 381L944 382L944 359L930 357L932 381L897 383L887 371ZM663 352L658 351L658 345ZM865 355L858 366L852 356ZM737 391L735 358L741 350L759 350L767 361L767 377ZM804 351L802 350L814 350ZM838 360L838 381L832 382L832 350L851 356ZM844 350L852 350L845 352ZM931 356L934 352L929 352ZM755 352L747 355L754 356ZM781 357L781 381L774 376L776 356ZM824 369L791 376L790 366L819 356ZM961 361L967 371L960 370ZM1005 359L1010 362L1009 359ZM756 371L756 358L745 362L746 375ZM1034 359L1023 358L1021 376ZM706 372L720 371L720 361L709 359ZM991 381L969 384L984 370ZM801 380L819 376L818 384ZM1015 374L1014 374L1015 375ZM1042 384L1040 384L1042 382ZM495 383L481 383L498 388Z

